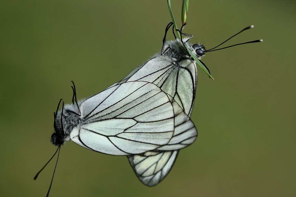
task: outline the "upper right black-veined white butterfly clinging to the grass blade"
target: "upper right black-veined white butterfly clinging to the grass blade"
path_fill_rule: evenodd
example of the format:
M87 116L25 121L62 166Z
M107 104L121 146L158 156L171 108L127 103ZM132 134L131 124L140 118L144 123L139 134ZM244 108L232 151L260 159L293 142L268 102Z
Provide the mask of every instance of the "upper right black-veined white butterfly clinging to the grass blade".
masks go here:
M170 24L166 28L166 32ZM163 49L144 64L131 71L114 85L132 81L146 81L160 87L168 94L175 114L175 131L172 139L156 151L129 155L128 160L142 183L148 186L158 184L173 166L179 149L192 144L197 130L190 120L197 85L197 69L194 59L187 53L184 44L200 59L205 48L201 44L188 43L190 38L171 40ZM112 87L112 86L111 86ZM162 152L159 152L162 151Z

